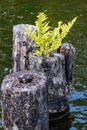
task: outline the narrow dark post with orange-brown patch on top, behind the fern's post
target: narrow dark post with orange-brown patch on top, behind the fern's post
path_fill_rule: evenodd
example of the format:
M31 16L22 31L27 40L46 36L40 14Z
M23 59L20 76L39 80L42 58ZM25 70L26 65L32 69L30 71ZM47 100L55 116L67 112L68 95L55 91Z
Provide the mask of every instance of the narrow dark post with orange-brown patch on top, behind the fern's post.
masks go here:
M72 44L64 43L60 48L60 53L65 57L65 75L67 83L67 92L73 89L74 84L74 59L76 50Z

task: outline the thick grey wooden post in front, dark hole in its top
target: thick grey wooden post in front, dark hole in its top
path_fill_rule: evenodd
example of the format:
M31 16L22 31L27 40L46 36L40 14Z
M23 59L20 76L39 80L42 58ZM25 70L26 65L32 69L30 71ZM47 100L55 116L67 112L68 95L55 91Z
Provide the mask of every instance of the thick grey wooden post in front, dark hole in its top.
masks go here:
M48 130L46 76L35 71L7 75L2 82L4 130Z

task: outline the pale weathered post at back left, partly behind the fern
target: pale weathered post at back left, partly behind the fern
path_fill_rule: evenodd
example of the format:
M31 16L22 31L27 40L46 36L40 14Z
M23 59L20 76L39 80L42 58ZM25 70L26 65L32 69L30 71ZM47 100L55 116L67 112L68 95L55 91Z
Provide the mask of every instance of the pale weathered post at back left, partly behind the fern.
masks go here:
M13 72L29 69L28 54L32 51L34 41L27 36L24 26L36 31L36 27L28 24L19 24L13 27Z

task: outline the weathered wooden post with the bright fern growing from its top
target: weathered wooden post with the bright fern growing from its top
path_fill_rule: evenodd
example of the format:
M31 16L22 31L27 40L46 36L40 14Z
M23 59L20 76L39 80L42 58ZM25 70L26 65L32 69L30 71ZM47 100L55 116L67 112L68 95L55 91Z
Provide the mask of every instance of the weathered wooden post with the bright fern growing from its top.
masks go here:
M31 70L42 71L47 75L49 119L62 118L69 111L64 55L54 53L52 57L44 58L31 53L29 64Z

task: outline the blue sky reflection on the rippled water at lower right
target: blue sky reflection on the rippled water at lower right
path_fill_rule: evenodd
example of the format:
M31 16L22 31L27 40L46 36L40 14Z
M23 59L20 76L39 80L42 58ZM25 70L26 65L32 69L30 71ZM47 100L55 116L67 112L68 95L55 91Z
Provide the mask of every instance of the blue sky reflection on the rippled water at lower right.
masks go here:
M70 98L70 112L72 120L72 126L78 130L87 129L87 97L84 91L74 91ZM70 129L71 130L71 129Z

